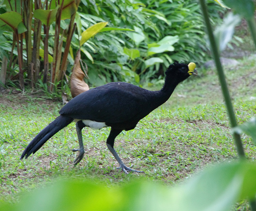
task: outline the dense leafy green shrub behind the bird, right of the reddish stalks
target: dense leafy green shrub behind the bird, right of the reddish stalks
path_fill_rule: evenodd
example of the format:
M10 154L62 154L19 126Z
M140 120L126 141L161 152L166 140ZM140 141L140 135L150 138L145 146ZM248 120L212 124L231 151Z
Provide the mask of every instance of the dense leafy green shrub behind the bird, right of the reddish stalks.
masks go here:
M208 5L212 22L219 22L216 11L223 9L214 1L208 1ZM88 65L88 83L95 86L119 80L138 83L138 75L142 82L149 81L162 75L175 60L202 64L208 58L204 25L196 0L84 0L80 4L80 17L82 30L99 21L135 30L102 32L86 43L84 48L94 63L86 55L82 57ZM164 38L171 41L168 39L169 47L164 48L168 45L164 43L161 48L158 42ZM159 48L152 53L150 47L157 46ZM127 55L124 48L139 52L139 56Z

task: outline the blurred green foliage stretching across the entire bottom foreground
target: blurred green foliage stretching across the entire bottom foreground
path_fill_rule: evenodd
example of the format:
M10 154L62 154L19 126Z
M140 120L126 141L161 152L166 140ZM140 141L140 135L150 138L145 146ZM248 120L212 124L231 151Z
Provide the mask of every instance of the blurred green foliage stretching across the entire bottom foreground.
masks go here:
M255 178L256 166L240 161L218 164L172 188L143 180L107 187L61 179L26 193L16 204L0 204L0 210L227 211L237 200L255 197Z

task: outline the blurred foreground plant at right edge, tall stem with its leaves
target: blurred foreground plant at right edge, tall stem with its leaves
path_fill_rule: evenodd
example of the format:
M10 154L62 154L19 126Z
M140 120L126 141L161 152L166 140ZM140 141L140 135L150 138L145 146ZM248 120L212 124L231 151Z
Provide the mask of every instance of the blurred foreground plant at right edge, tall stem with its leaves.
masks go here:
M254 40L255 47L256 47L256 22L255 22L255 19L254 19L254 10L255 10L254 8L255 8L255 6L254 6L253 0L246 0L246 1L243 1L243 2L235 1L235 0L223 0L224 4L226 6L222 3L222 1L218 1L218 0L215 0L215 1L218 2L221 6L224 6L224 7L229 6L230 8L232 8L234 10L234 12L239 14L242 18L246 19L246 21L248 22L248 26L250 28L253 40ZM219 76L219 81L220 81L220 85L221 85L221 88L222 88L223 97L224 97L224 100L225 100L225 103L226 103L226 109L227 109L227 112L228 112L230 126L232 128L232 135L233 135L233 138L234 138L234 142L236 144L238 156L239 156L240 160L244 160L245 159L245 152L244 152L243 143L242 143L240 134L242 132L245 132L246 134L252 136L252 140L254 141L254 143L256 143L255 142L255 140L256 140L256 133L255 133L255 131L256 131L256 120L255 120L255 118L252 118L251 120L249 120L248 122L245 122L242 125L237 124L236 116L235 116L235 113L234 113L234 108L232 106L232 101L231 101L231 98L230 98L230 94L229 94L229 91L228 91L228 86L227 86L225 75L224 75L224 71L222 69L222 64L220 62L220 55L219 55L218 45L216 44L215 37L214 37L214 34L212 32L210 19L208 17L208 11L207 11L204 0L200 0L200 4L201 4L201 7L202 7L202 13L203 13L203 16L204 16L204 20L205 20L209 40L210 40L212 56L213 56L215 64L216 64L216 69L217 69L217 73L218 73L218 76ZM244 167L244 168L246 168L246 167ZM248 183L247 184L248 186L250 186L250 183L252 184L252 180L244 181L244 183L245 182ZM250 191L255 191L255 189L256 189L255 186L251 185ZM251 209L253 211L256 211L255 193L253 195L251 195L249 197L249 199L250 199Z

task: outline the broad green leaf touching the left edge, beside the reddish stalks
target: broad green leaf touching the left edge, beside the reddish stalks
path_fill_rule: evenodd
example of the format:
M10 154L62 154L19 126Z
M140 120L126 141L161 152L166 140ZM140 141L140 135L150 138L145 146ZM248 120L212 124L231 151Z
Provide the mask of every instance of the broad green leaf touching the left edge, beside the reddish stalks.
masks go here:
M0 27L6 25L9 27L10 31L18 28L21 22L22 16L17 12L6 12L0 15Z

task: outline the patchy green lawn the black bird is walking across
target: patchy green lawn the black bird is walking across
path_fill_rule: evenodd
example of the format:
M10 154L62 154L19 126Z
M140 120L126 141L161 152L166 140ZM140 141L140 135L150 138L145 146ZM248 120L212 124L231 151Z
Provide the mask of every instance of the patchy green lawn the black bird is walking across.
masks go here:
M239 123L256 114L255 63L244 59L239 67L225 68ZM172 184L212 163L236 159L216 73L200 69L198 73L200 77L190 77L178 85L169 101L134 130L116 138L115 148L124 163L143 170L142 174L125 175L116 170L118 163L106 148L110 128L83 130L86 154L73 167L77 154L71 149L78 148L74 123L54 135L36 154L20 161L24 148L58 116L62 105L39 95L0 94L0 200L17 201L18 193L59 177L99 179L108 186L138 177ZM248 136L242 134L242 139L246 156L254 161L256 147Z

